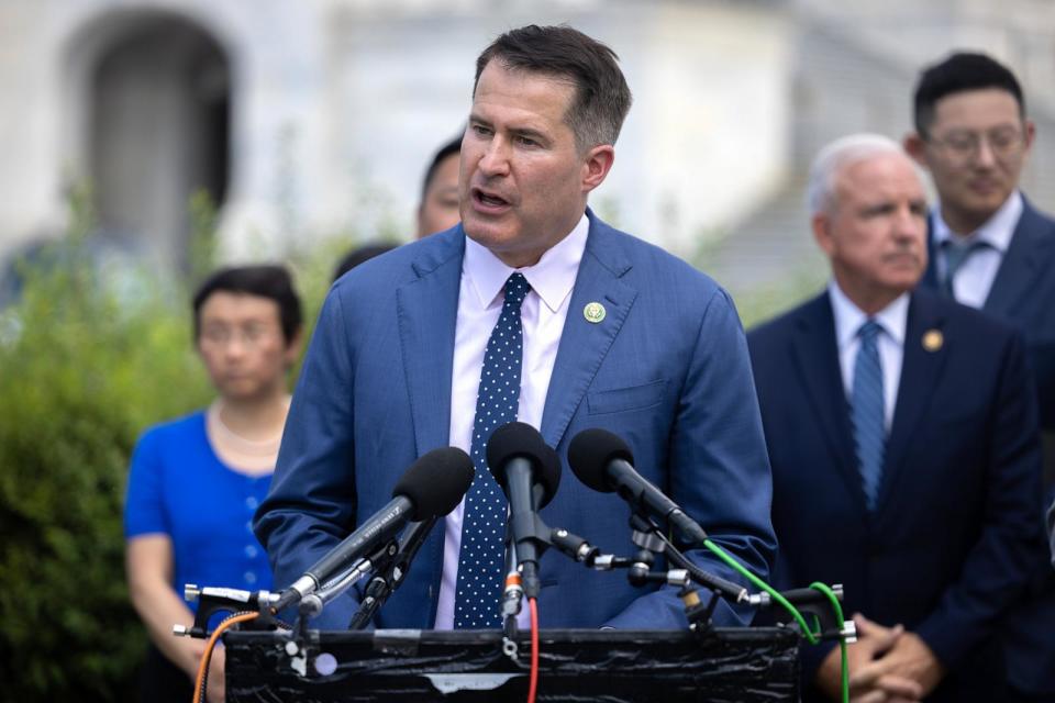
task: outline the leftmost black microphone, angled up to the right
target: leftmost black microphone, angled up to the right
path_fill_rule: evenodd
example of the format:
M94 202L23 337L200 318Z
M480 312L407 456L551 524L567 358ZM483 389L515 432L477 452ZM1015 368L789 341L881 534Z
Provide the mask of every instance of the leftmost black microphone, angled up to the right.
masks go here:
M414 461L392 489L392 500L293 581L274 611L315 592L408 522L426 521L454 510L473 483L473 459L457 447L433 449Z

